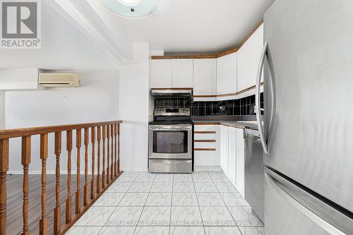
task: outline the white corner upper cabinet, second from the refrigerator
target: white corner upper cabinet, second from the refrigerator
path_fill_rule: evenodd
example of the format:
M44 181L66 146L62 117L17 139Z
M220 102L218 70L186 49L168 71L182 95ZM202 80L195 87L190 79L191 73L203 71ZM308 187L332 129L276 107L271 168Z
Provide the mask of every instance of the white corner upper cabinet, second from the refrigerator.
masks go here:
M217 58L217 95L237 92L237 52Z

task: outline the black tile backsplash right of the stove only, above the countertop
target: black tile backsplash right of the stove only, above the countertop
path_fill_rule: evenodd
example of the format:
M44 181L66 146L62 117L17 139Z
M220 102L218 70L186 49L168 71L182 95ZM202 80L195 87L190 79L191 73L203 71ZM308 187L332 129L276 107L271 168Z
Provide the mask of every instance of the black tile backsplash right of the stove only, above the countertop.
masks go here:
M263 93L261 93L260 99L261 108L263 108ZM239 100L192 102L192 115L256 115L255 95L244 97Z

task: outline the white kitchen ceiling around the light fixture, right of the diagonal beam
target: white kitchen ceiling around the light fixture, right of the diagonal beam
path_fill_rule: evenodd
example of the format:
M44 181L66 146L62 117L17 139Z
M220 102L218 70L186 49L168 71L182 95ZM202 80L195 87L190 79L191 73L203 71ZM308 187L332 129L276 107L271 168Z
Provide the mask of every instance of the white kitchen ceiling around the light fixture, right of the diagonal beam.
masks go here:
M218 52L237 46L273 1L160 0L153 16L131 20L107 11L99 0L88 0L110 30L122 29L133 42L150 42L151 51L167 53Z

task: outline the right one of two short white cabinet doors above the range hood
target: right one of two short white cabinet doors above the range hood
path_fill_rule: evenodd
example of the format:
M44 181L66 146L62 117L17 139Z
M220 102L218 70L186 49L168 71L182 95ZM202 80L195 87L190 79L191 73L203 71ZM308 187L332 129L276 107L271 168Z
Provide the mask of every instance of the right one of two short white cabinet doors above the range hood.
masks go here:
M193 59L172 60L172 88L193 88Z

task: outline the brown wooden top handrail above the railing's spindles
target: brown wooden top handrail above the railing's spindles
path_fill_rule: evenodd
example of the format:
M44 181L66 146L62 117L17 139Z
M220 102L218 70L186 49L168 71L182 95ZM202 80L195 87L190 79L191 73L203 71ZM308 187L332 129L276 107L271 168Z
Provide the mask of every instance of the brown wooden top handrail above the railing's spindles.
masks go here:
M16 138L27 135L40 135L45 133L54 133L59 131L76 130L79 128L91 128L95 126L111 125L116 123L122 123L123 121L103 121L103 122L92 122L92 123L79 123L59 126L37 126L30 128L16 128L0 131L0 140L8 138Z

